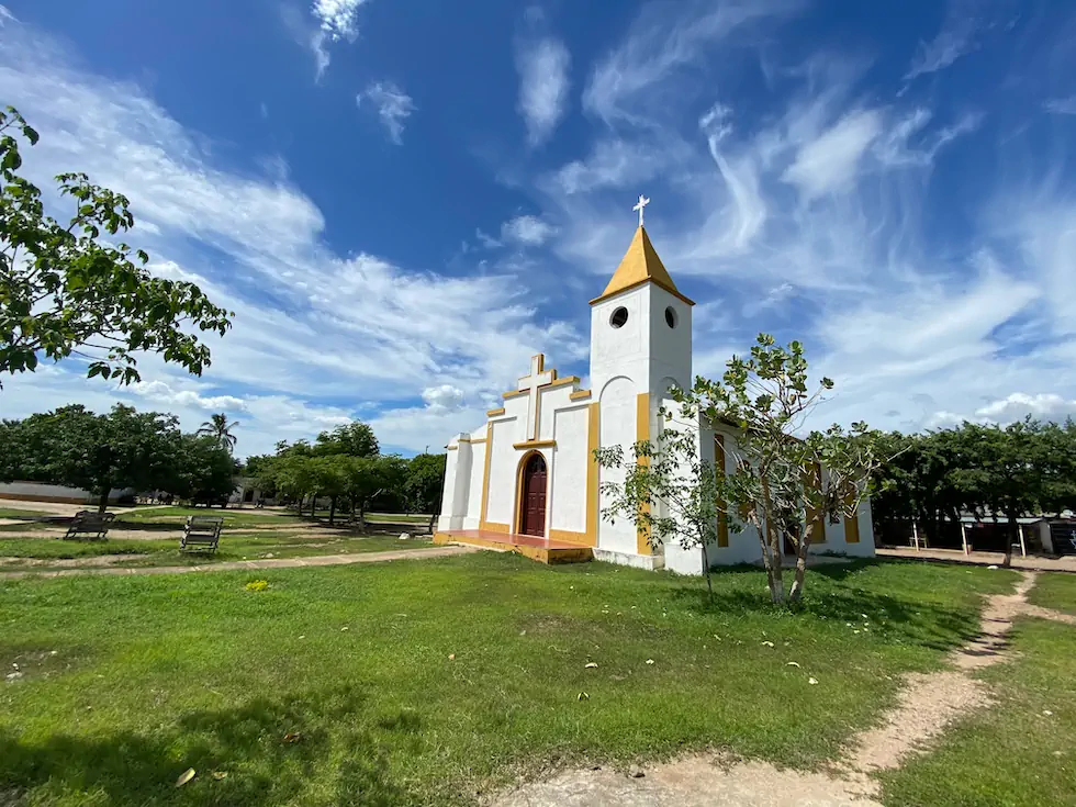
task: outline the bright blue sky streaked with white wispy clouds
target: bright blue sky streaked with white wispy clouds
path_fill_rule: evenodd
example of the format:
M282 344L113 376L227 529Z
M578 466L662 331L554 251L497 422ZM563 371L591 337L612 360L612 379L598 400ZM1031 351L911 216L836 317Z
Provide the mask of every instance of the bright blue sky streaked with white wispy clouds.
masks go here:
M200 379L72 360L5 382L5 417L441 446L535 352L585 381L640 192L696 372L767 330L836 379L819 422L1076 414L1071 3L5 3L26 171L123 191L153 271L236 311Z

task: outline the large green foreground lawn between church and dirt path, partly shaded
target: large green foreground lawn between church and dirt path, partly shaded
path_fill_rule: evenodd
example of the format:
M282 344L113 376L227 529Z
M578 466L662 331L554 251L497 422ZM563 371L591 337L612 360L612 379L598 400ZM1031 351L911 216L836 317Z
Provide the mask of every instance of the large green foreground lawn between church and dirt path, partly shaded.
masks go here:
M697 580L495 553L3 582L0 666L24 676L0 686L0 783L48 805L468 804L696 748L812 766L1013 580L826 567L799 613L758 571L718 574L709 605Z

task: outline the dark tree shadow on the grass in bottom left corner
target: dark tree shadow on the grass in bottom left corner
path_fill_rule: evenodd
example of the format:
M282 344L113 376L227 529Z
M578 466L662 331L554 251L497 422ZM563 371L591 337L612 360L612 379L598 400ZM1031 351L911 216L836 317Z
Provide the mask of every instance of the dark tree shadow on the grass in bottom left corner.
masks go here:
M14 804L13 794L23 794L27 802L72 805L102 797L117 805L413 802L392 780L384 749L403 743L419 752L418 716L382 715L370 725L366 708L365 695L341 688L191 713L145 733L53 733L24 742L0 730L0 782L13 788L0 795ZM197 777L177 788L188 767Z

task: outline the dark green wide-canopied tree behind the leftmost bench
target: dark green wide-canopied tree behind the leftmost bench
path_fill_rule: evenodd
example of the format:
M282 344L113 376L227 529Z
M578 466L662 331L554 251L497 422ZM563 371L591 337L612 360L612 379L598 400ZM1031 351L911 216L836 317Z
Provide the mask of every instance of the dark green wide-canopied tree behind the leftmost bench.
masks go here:
M175 479L180 433L173 415L122 404L96 415L75 404L31 415L18 429L20 477L86 489L102 513L115 487L166 489Z

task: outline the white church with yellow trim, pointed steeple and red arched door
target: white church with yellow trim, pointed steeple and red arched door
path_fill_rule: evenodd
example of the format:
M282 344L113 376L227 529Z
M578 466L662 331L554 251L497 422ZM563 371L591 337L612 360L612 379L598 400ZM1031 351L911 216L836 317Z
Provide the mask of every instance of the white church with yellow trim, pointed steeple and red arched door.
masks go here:
M643 200L640 199L640 202ZM640 209L641 212L641 209ZM671 386L691 386L692 306L642 226L606 285L591 301L590 389L561 378L539 354L518 389L486 422L449 441L445 494L435 541L511 549L546 562L590 558L643 569L703 572L703 552L666 542L651 548L629 518L601 517L604 482L623 471L598 466L594 449L660 436L658 411ZM703 460L722 457L732 471L736 434L698 429ZM870 503L856 516L815 529L811 552L874 554ZM755 530L717 525L713 565L761 559Z

